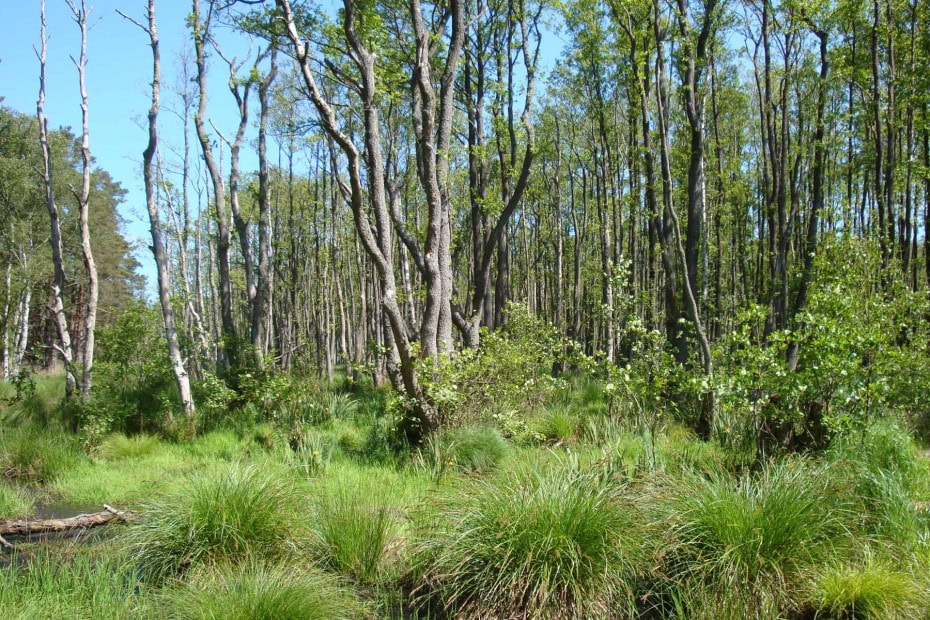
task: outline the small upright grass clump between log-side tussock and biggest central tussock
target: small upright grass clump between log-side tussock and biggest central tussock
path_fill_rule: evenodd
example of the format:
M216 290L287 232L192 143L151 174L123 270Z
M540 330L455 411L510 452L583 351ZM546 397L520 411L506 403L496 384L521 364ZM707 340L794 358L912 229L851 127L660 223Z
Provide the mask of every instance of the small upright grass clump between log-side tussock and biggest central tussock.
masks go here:
M393 518L379 493L343 487L319 498L313 548L321 564L359 581L372 581L384 559Z

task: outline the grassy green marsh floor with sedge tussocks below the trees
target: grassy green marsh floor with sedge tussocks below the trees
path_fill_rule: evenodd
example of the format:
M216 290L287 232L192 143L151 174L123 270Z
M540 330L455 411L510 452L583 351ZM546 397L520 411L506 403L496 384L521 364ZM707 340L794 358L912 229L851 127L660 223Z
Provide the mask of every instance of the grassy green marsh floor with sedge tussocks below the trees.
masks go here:
M266 423L89 452L7 408L0 523L138 518L9 537L0 615L930 618L930 454L896 425L760 463L606 419L592 393L522 436L416 450L335 391L296 441Z

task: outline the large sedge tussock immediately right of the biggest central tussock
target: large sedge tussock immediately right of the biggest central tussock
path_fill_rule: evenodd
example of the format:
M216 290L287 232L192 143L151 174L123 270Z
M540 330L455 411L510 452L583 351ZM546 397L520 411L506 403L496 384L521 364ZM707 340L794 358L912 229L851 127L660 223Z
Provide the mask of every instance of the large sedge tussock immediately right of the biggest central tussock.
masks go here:
M675 541L668 574L676 596L691 601L689 613L715 592L718 602L753 617L790 605L800 575L844 541L847 515L831 501L831 485L824 469L791 461L739 480L717 474L680 481L663 516Z

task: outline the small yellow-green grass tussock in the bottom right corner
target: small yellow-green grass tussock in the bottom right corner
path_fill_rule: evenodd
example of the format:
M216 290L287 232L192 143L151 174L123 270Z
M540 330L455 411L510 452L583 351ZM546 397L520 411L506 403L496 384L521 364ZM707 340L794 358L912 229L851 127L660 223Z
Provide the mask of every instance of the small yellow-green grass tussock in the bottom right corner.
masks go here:
M871 556L859 565L831 564L817 572L808 607L818 618L916 618L930 604L912 572Z

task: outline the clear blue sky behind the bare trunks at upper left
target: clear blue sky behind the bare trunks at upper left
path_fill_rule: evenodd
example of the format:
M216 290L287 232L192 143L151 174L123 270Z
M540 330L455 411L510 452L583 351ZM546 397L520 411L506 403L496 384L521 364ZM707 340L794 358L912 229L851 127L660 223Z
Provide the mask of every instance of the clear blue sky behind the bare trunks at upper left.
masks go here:
M324 3L331 4L331 0ZM141 168L142 150L148 139L144 123L151 96L151 48L147 35L116 12L119 9L144 21L147 3L145 0L88 0L88 6L91 8L87 41L91 152L96 164L109 171L128 191L120 207L125 221L124 232L131 241L139 243L136 256L142 263L142 273L149 280L151 294L155 272L148 250L150 237ZM159 130L166 166L170 160L177 159L171 150L179 152L183 141L180 120L171 110L176 108L172 90L178 81L178 57L185 45L191 45L186 26L189 12L189 0L158 0L156 6L162 59ZM49 41L45 113L53 127L80 128L77 70L71 60L72 55L76 57L80 52L80 31L65 0L46 0L46 19ZM4 97L0 105L26 114L35 114L38 96L39 62L33 46L39 45L39 22L39 0L0 0L0 96ZM227 56L241 58L249 52L249 40L240 33L216 26L214 35ZM543 36L542 64L548 69L560 54L563 43L552 30L545 30ZM256 51L257 46L258 43ZM221 59L213 56L208 73L207 114L226 136L232 137L238 113L227 87L228 70ZM540 84L540 94L542 90ZM253 121L255 114L253 102ZM252 134L254 128L247 135L242 151L243 171L254 170L258 165L250 144ZM192 140L191 161L196 163L199 146Z

